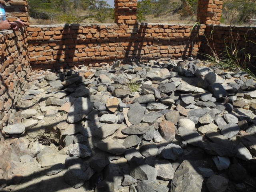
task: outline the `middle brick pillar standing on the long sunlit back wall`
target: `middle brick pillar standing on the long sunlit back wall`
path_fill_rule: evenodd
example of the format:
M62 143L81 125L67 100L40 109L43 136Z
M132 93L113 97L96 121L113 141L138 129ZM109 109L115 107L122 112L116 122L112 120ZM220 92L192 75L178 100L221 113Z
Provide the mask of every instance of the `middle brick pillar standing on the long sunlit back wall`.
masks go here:
M136 24L137 0L115 0L115 23Z

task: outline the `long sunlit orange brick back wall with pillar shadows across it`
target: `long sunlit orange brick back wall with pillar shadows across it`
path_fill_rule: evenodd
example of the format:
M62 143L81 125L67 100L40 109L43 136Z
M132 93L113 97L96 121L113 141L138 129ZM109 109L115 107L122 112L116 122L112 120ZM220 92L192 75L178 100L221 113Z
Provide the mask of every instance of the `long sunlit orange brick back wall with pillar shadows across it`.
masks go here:
M192 25L30 26L27 28L30 64L32 68L60 68L127 58L193 56L200 46L204 27L195 28L190 37ZM199 36L195 38L197 32Z

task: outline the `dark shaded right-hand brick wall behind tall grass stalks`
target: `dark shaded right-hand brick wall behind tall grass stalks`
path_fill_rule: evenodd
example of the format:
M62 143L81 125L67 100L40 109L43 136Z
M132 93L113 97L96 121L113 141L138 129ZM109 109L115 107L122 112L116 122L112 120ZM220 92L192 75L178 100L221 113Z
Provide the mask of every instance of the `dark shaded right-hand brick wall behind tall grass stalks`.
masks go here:
M236 48L234 53L237 53L241 61L245 59L246 54L250 54L251 63L256 64L256 27L208 25L205 29L205 36L208 41L203 39L203 46L200 47L199 52L211 54L211 47L218 55L225 56L226 48L231 55Z

